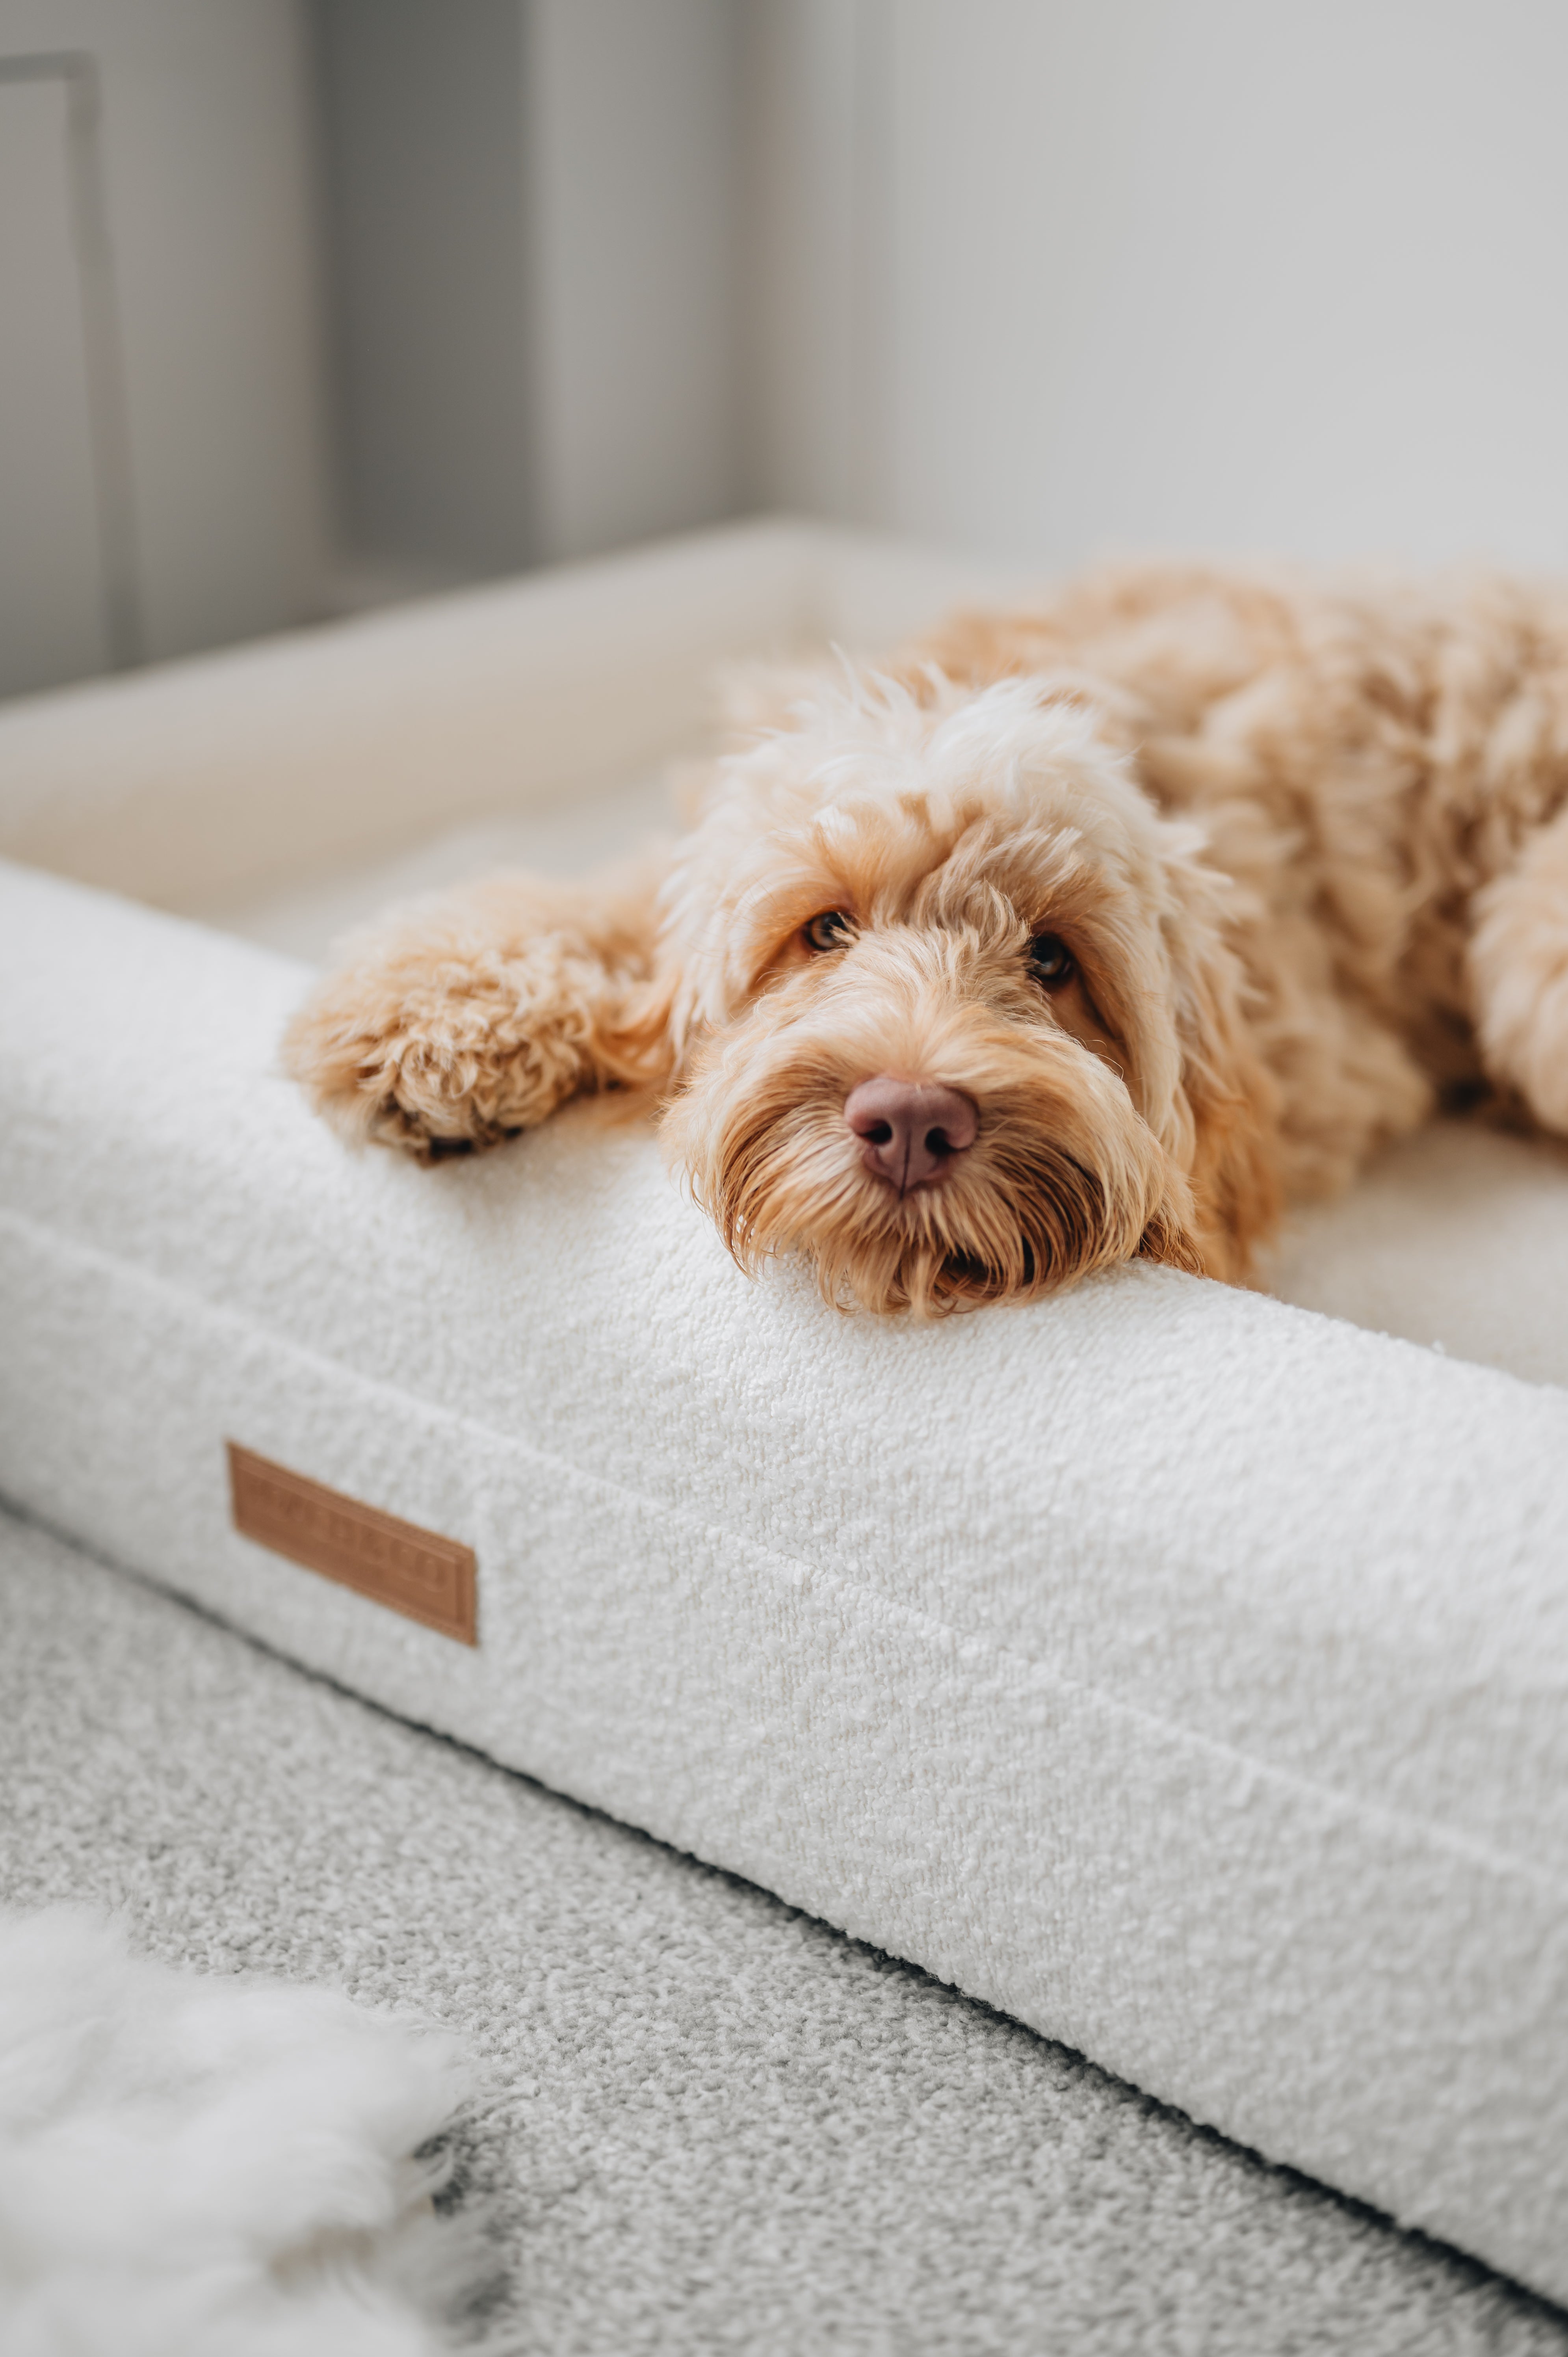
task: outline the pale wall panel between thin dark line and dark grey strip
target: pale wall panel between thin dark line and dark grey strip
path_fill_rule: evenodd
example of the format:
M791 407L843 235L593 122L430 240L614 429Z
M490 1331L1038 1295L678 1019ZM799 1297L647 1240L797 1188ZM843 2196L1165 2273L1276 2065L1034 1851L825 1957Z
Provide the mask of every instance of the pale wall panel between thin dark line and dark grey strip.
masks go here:
M85 52L101 85L141 648L309 618L328 493L295 0L0 0L0 59L38 52ZM35 450L59 464L42 427Z

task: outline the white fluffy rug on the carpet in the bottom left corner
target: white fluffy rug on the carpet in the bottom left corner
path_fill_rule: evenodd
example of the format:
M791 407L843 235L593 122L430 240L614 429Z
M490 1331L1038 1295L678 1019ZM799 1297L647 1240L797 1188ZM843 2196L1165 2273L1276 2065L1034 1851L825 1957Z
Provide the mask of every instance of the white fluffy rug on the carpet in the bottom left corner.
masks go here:
M7 2357L422 2357L448 2036L0 1912Z

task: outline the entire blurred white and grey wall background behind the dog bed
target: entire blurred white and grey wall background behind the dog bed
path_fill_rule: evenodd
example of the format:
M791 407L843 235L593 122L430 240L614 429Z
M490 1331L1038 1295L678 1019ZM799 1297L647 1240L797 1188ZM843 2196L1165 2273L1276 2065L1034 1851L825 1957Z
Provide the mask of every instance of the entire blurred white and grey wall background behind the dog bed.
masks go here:
M1568 570L1566 87L1563 0L0 0L0 691L747 507Z

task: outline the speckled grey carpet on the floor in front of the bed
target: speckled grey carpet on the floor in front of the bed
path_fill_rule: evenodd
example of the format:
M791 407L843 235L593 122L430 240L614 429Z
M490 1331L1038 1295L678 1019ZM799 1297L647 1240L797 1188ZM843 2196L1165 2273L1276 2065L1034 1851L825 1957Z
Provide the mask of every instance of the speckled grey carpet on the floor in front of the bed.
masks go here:
M0 1895L465 2034L486 2348L1568 2357L1455 2253L17 1523L0 1794Z

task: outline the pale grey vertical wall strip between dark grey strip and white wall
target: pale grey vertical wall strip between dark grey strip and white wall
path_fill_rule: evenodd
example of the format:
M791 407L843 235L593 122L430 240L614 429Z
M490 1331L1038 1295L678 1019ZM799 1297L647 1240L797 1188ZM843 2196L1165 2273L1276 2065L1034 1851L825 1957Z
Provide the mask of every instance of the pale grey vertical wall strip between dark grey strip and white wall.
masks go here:
M738 5L528 5L540 556L743 500Z

